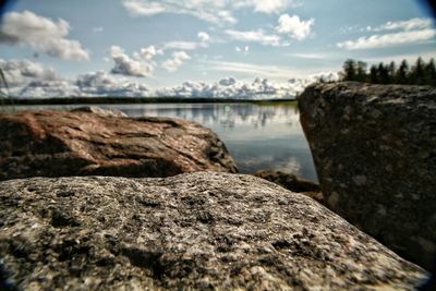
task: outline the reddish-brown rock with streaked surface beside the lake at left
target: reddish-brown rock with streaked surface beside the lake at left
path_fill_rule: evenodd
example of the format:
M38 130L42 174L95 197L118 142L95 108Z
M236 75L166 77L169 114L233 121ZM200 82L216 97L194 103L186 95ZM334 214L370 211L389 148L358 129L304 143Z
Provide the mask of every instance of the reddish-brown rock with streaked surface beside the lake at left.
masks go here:
M83 110L1 114L0 180L238 171L225 144L198 123Z

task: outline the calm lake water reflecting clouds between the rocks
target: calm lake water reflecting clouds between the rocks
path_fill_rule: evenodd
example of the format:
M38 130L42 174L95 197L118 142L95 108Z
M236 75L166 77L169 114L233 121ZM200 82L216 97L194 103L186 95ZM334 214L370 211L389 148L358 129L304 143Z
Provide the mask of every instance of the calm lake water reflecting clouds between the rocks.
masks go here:
M196 121L214 130L226 143L242 173L261 169L293 172L316 181L311 151L292 105L154 104L106 105L131 117L172 117ZM71 106L76 107L76 106ZM69 107L69 108L71 108ZM15 109L59 109L32 106Z

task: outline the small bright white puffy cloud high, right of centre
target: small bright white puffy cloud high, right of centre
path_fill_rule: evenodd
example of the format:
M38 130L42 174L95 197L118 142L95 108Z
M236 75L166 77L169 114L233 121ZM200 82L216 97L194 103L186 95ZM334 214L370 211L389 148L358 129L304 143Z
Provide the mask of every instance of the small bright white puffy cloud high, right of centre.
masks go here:
M282 14L278 20L276 31L279 34L289 35L296 40L303 40L311 35L311 28L314 24L314 19L302 21L298 15L290 16L289 14Z

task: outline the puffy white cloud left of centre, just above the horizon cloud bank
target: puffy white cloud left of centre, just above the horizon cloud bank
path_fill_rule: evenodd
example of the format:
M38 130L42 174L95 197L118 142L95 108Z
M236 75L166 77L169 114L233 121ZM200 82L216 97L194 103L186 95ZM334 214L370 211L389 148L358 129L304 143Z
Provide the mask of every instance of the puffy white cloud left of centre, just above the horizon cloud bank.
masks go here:
M114 66L111 70L112 74L126 76L149 76L155 70L155 62L152 60L157 50L154 46L142 48L140 52L134 52L133 57L124 53L124 50L118 46L110 48L110 57L114 61Z

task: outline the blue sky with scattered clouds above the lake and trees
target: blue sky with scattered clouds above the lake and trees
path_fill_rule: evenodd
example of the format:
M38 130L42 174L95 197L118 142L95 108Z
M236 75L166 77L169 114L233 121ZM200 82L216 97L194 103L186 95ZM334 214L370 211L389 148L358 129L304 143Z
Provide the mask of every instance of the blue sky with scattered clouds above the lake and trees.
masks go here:
M414 0L16 0L0 68L16 97L292 98L346 59L436 57Z

